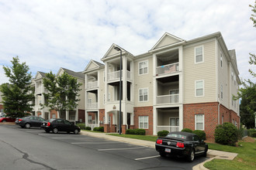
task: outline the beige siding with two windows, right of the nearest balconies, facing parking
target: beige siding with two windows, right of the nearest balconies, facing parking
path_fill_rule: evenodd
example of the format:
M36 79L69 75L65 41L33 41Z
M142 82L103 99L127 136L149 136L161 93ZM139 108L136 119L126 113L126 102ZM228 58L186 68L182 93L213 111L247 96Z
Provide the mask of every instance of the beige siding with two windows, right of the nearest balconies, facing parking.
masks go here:
M203 46L203 63L195 64L195 46ZM184 103L216 101L216 48L215 40L184 48ZM203 80L204 96L195 97L195 81Z

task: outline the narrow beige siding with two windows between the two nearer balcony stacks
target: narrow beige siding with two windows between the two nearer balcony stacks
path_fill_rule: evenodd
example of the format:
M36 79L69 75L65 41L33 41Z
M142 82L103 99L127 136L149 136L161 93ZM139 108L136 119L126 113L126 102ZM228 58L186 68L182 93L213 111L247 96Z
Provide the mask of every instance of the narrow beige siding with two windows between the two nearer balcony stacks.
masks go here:
M146 74L139 75L139 63L148 61ZM145 57L134 62L134 107L145 107L153 105L153 57ZM139 89L147 88L147 101L139 101Z

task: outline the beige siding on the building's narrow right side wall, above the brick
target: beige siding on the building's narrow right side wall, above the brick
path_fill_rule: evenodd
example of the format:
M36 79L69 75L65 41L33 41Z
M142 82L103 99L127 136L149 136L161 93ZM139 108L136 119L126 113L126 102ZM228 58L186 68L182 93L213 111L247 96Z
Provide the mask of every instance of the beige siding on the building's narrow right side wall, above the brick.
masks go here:
M223 50L218 46L218 97L223 106L229 108L230 91L229 91L229 64ZM220 63L220 53L222 53L222 67ZM221 85L223 86L223 99L221 98Z

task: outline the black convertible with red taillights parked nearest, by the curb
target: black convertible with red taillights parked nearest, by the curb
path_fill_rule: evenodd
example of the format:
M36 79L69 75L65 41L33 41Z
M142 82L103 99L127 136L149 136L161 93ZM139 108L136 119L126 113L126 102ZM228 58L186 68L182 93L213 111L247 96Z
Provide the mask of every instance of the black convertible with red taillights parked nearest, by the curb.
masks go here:
M176 155L185 157L189 162L193 162L195 155L207 155L208 145L199 140L196 134L175 131L166 137L157 138L156 150L162 157L166 155Z

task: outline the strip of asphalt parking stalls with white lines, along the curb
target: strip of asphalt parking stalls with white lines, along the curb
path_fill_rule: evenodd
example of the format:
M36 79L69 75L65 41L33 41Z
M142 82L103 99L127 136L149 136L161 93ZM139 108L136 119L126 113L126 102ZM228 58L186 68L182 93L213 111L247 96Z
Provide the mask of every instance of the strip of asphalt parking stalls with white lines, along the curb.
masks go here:
M9 128L15 128L18 131L23 131L29 134L39 135L47 138L50 141L57 141L73 145L81 149L89 149L98 152L104 152L106 155L115 155L119 158L124 158L130 161L141 162L147 165L150 169L192 169L194 165L204 162L206 158L198 157L192 163L186 162L183 158L161 158L154 148L148 148L141 145L132 145L120 141L111 141L104 138L94 138L82 134L67 134L67 133L46 133L40 128L19 128L16 125L9 125ZM147 168L143 168L147 169Z

